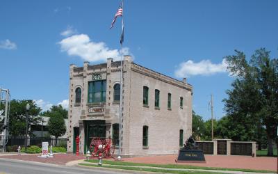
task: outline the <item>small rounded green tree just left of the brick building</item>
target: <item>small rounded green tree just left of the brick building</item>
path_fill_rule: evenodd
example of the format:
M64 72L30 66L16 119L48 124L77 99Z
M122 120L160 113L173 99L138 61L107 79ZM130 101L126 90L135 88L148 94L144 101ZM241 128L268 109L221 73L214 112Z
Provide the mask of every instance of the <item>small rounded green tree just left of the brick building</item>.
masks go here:
M49 134L55 136L55 145L57 145L57 139L59 136L63 136L66 132L65 127L65 120L63 118L63 115L61 115L57 111L53 111L50 114L49 122L48 122L48 128L49 128Z

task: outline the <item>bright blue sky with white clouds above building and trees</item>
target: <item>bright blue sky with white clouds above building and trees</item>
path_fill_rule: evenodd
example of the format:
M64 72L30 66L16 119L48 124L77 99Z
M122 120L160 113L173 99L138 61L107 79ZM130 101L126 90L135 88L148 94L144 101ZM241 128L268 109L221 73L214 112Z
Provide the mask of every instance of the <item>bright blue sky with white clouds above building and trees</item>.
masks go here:
M0 86L13 99L47 109L68 99L69 65L117 57L120 1L0 1ZM134 61L193 85L193 109L204 120L210 95L216 118L233 77L224 56L278 53L278 1L124 1L124 47Z

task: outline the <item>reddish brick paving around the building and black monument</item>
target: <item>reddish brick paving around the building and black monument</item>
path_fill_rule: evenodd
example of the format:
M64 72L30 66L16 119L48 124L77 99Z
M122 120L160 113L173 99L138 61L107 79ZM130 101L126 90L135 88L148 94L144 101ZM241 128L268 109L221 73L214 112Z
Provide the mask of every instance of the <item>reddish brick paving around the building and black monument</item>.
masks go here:
M54 154L54 158L40 158L41 154L36 155L17 155L17 153L1 154L0 158L6 159L19 159L23 161L36 161L47 164L57 164L63 166L74 166L82 162L85 156L76 156L65 153ZM123 158L122 161L142 163L142 164L176 164L175 159L177 155L163 155L163 156L149 156L149 157L133 157ZM217 167L217 168L242 168L242 169L254 169L254 170L277 170L277 158L275 157L246 157L246 156L226 156L226 155L205 155L205 164L196 163L178 163L178 165L186 166L205 166L205 167ZM78 161L79 160L79 161ZM114 160L114 159L104 159ZM186 169L189 170L189 169ZM221 171L222 172L222 171ZM223 173L223 172L222 172Z

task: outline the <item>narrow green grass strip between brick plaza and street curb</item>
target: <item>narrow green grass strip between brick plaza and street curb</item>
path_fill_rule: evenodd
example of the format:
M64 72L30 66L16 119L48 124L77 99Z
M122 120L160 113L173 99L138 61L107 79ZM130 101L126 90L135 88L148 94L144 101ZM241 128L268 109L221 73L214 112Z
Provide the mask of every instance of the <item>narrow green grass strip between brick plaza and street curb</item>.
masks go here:
M97 163L97 159L90 159L88 162ZM149 167L158 167L158 168L177 168L177 169L204 169L204 170L220 170L220 171L244 171L244 172L256 172L256 173L267 173L267 172L274 172L274 171L264 171L264 170L252 170L252 169L242 169L242 168L215 168L215 167L202 167L202 166L186 166L186 165L177 165L177 164L140 164L140 163L131 163L131 162L124 162L124 161L109 161L104 160L103 164L109 164L109 168L138 168L139 171L148 169L148 168L140 168L140 166L149 166ZM83 164L82 164L83 165ZM85 164L84 164L85 165ZM88 164L85 166L90 166L95 164ZM106 167L106 166L104 166ZM156 169L156 168L153 168ZM133 170L133 169L127 169ZM136 170L136 171L138 171ZM158 170L158 169L156 169ZM161 169L160 169L161 170ZM165 169L167 170L167 169ZM157 171L158 172L158 171ZM165 172L165 171L160 171ZM188 172L188 171L186 171Z

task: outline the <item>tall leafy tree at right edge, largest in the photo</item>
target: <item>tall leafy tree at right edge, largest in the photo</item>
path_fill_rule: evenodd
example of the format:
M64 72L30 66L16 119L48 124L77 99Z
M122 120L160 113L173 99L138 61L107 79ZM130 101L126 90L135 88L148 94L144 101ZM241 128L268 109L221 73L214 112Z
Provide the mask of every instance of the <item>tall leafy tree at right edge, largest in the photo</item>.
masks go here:
M229 96L225 99L227 116L236 124L233 130L237 139L261 139L261 127L265 127L268 138L268 155L273 155L272 140L278 122L278 63L270 59L270 52L256 50L248 63L243 52L226 57L228 69L236 76L232 89L227 90Z

